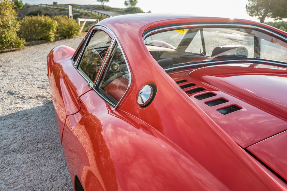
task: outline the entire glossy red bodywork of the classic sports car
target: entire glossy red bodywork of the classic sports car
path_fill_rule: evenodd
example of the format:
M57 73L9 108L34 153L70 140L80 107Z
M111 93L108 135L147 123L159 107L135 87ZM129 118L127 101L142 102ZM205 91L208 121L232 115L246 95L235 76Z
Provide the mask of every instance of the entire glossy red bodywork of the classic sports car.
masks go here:
M260 27L286 38L281 30L240 19L177 14L104 19L86 39L92 30L103 30L125 55L131 81L115 107L73 65L79 50L59 46L50 52L49 84L75 190L287 190L287 65L242 59L236 63L249 65L240 70L225 60L165 71L143 41L150 30L210 23ZM175 83L180 80L186 82ZM179 87L190 82L195 86L188 90L204 91L189 95ZM147 84L156 86L156 95L141 107L138 94ZM206 92L215 96L195 98ZM228 102L205 104L215 98ZM241 110L217 112L230 105Z

